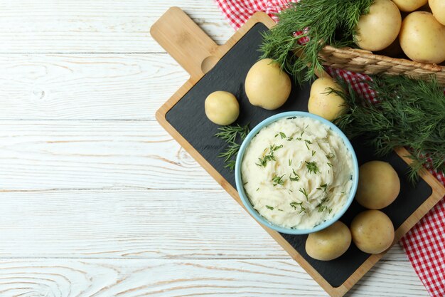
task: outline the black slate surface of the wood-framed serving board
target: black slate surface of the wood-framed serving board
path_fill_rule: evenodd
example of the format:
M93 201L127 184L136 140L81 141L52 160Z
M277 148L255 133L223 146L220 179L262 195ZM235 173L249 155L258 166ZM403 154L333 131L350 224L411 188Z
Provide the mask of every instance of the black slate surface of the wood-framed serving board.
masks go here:
M201 78L176 105L166 114L166 120L170 123L215 170L235 187L233 172L224 168L223 159L218 154L225 147L225 142L214 137L218 132L218 125L210 122L205 117L205 98L215 90L226 90L233 93L240 102L240 118L236 123L245 125L250 123L254 127L269 116L289 110L307 111L310 84L303 86L292 85L289 100L278 110L264 110L250 105L247 100L244 81L250 67L259 58L259 45L262 43L261 33L267 31L263 24L254 25L249 32L233 46L228 53L215 65L215 67ZM431 187L423 180L415 187L407 182L406 174L408 165L394 152L387 157L376 157L372 148L365 147L360 139L352 141L354 150L358 157L358 164L370 160L384 160L390 162L399 174L401 182L400 195L389 207L382 209L392 220L397 229L430 195ZM235 187L236 188L236 187ZM353 202L348 212L341 221L349 225L353 217L361 212L357 202ZM306 235L281 234L289 244L313 266L323 278L334 288L341 286L363 262L368 259L369 254L358 250L351 244L343 256L333 261L317 261L306 254L304 244Z

